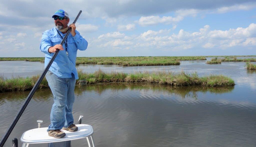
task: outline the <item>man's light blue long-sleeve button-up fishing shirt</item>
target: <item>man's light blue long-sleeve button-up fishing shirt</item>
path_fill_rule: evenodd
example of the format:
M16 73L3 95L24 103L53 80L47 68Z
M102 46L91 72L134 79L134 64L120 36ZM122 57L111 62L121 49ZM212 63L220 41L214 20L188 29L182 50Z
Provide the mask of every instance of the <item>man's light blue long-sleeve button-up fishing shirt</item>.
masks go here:
M40 50L45 53L45 67L49 63L51 57L54 55L54 53L49 53L48 49L51 46L60 44L62 41L62 38L57 31L60 33L60 35L62 35L63 38L65 37L66 33L62 34L55 27L50 30L46 30L42 35ZM62 45L64 50L59 51L49 70L60 78L71 78L73 73L75 78L78 79L76 69L77 49L86 50L88 43L77 30L76 35L73 37L70 33L67 40L68 55L66 54L66 45L64 43Z

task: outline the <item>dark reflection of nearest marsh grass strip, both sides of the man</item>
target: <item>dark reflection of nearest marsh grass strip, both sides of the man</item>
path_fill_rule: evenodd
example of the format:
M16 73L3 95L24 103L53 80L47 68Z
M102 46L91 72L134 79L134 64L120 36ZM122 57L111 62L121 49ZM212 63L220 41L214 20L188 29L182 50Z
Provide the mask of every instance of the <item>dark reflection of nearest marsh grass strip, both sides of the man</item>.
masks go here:
M181 98L193 97L197 99L198 92L201 93L228 93L234 89L234 86L225 87L206 87L206 86L171 86L171 85L159 85L159 84L148 84L148 83L101 83L86 86L76 86L75 94L82 95L84 91L93 91L98 94L102 94L104 91L111 89L113 92L119 90L150 90L154 93L165 93L165 94L177 94ZM24 101L30 91L16 91L16 92L4 92L0 93L0 106L5 101ZM34 94L33 99L35 101L49 101L52 98L50 89L38 89Z

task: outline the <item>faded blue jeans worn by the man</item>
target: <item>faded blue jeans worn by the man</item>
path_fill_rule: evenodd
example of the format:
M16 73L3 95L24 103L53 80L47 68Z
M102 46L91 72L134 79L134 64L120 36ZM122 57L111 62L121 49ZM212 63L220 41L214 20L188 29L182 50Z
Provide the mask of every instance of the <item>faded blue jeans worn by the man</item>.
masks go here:
M49 130L59 130L62 127L67 128L74 123L72 108L75 99L76 79L73 74L72 78L59 78L49 70L45 77L54 96L54 104L50 115L51 124L47 132Z

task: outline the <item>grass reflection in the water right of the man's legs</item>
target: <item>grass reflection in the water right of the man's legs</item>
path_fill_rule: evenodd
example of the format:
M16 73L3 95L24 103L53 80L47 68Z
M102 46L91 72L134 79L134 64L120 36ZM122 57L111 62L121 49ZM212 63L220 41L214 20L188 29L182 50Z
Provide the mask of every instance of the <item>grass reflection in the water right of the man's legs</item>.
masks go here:
M80 90L78 90L80 89ZM88 85L85 87L77 87L76 93L82 94L82 91L96 91L99 94L102 94L105 90L111 89L113 92L116 90L151 90L154 93L175 93L181 98L193 97L197 99L198 92L201 93L228 93L234 89L234 86L225 86L225 87L206 87L206 86L171 86L171 85L159 85L159 84L146 84L146 83L104 83L104 84L94 84Z

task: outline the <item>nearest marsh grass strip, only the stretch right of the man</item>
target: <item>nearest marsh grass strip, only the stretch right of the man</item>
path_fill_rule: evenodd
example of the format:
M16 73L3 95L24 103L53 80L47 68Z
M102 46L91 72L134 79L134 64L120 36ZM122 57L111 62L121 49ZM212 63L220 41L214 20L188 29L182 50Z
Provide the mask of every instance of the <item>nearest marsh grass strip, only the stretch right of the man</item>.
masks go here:
M101 82L145 82L145 83L159 83L175 86L231 86L234 85L234 80L223 75L210 75L198 77L197 73L186 74L184 71L174 74L166 71L155 72L135 72L135 73L120 73L110 72L106 73L102 70L87 74L78 71L79 80L86 80L88 84Z

